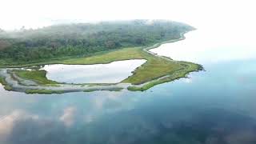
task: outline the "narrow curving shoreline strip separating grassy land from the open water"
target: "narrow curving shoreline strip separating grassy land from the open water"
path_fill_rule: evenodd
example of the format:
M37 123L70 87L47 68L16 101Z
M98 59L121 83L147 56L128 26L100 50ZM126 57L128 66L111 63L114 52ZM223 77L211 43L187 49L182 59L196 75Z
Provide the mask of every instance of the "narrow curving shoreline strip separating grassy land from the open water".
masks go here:
M154 57L158 57L158 58L164 58L168 61L172 61L172 62L178 62L178 61L174 61L171 58L168 57L164 57L164 56L160 56L158 54L155 54L153 52L151 52L151 49L157 48L159 46L162 46L162 44L166 44L166 43L170 43L170 42L178 42L181 40L186 39L186 37L184 36L184 34L186 34L186 32L181 33L181 37L178 39L172 39L169 41L165 41L165 42L158 42L156 44L154 44L153 46L144 46L142 47L142 50L145 51L147 54L151 54ZM115 62L115 61L113 61ZM189 64L192 64L192 62L183 62L183 65L186 66L190 66ZM194 64L194 63L193 63ZM140 66L139 66L140 67ZM188 69L190 69L191 67L188 67ZM164 83L164 82L171 82L174 81L175 79L178 78L186 78L187 74L190 74L190 72L193 71L198 71L198 70L202 70L202 66L198 65L198 67L195 69L191 69L191 70L178 70L176 71L173 75L177 75L176 77L171 77L171 75L165 75L162 76L161 78L156 78L156 79L152 79L152 81L150 82L144 82L140 85L132 85L130 83L124 83L124 82L118 82L118 83L108 83L106 84L93 84L93 83L88 83L88 84L58 84L57 86L41 86L41 85L37 85L37 86L31 86L31 85L24 85L24 83L20 83L17 80L15 81L15 79L13 78L13 75L8 73L8 70L14 70L14 69L18 69L18 68L6 68L4 70L0 69L0 77L3 77L4 80L6 82L4 82L6 84L6 86L10 86L13 91L18 91L18 92L25 92L27 94L62 94L62 93L68 93L68 92L79 92L79 91L85 91L85 92L90 92L90 91L98 91L98 90L110 90L110 91L119 91L119 90L132 90L132 91L143 91L143 90L148 90L150 89L150 87ZM33 80L27 80L27 79L22 79L20 78L19 81L26 81L27 83L34 83ZM10 89L8 89L10 90Z

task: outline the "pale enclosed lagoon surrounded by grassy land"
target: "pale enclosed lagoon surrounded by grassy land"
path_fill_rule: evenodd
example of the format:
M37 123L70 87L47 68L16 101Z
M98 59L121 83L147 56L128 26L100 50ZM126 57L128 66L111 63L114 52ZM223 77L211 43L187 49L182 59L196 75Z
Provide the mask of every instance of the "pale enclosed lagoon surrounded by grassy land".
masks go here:
M46 78L66 83L115 83L132 75L146 60L134 59L96 65L46 65Z

